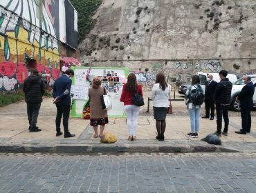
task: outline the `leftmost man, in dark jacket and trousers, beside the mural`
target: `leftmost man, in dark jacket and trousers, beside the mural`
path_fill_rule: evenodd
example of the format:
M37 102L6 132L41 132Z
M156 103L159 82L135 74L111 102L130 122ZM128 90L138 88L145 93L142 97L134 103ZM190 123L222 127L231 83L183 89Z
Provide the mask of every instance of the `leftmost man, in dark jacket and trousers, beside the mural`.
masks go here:
M30 132L41 131L37 127L37 118L43 95L45 92L44 81L39 76L37 69L32 69L30 76L24 81L23 91L25 92L25 101L27 103L27 114Z

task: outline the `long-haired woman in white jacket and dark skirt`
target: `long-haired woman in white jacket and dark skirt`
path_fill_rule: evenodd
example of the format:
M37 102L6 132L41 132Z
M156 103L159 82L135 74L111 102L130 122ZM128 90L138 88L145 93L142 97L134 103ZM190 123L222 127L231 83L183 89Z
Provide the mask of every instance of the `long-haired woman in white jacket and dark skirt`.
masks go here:
M151 99L153 101L154 119L156 119L156 139L165 140L166 114L169 107L171 86L165 81L162 72L156 74L156 83L152 88Z

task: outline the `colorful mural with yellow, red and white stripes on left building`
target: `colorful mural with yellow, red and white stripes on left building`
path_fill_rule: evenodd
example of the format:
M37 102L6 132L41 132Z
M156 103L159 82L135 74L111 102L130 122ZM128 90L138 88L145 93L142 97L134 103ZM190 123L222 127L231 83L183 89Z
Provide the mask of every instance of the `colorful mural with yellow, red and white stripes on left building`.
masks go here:
M48 83L59 77L54 19L44 4L39 14L39 2L0 0L0 90L20 88L30 68L50 74Z

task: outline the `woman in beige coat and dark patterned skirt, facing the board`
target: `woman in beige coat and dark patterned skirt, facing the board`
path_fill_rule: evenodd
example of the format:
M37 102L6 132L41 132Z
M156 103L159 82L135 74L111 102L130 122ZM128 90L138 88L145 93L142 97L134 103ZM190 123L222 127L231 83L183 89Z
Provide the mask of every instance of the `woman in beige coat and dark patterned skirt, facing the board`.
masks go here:
M90 125L94 130L94 137L102 136L105 124L109 123L107 110L102 110L100 96L107 94L104 87L101 86L102 79L99 77L93 78L92 87L89 88L90 99ZM98 135L98 125L100 125L100 135Z

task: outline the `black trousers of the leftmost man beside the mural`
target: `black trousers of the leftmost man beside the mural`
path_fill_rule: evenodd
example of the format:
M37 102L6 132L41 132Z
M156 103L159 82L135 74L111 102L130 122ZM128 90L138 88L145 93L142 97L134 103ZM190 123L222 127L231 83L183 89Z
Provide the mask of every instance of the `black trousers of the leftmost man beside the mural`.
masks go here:
M30 128L35 128L37 126L40 107L41 103L27 103L28 123Z

